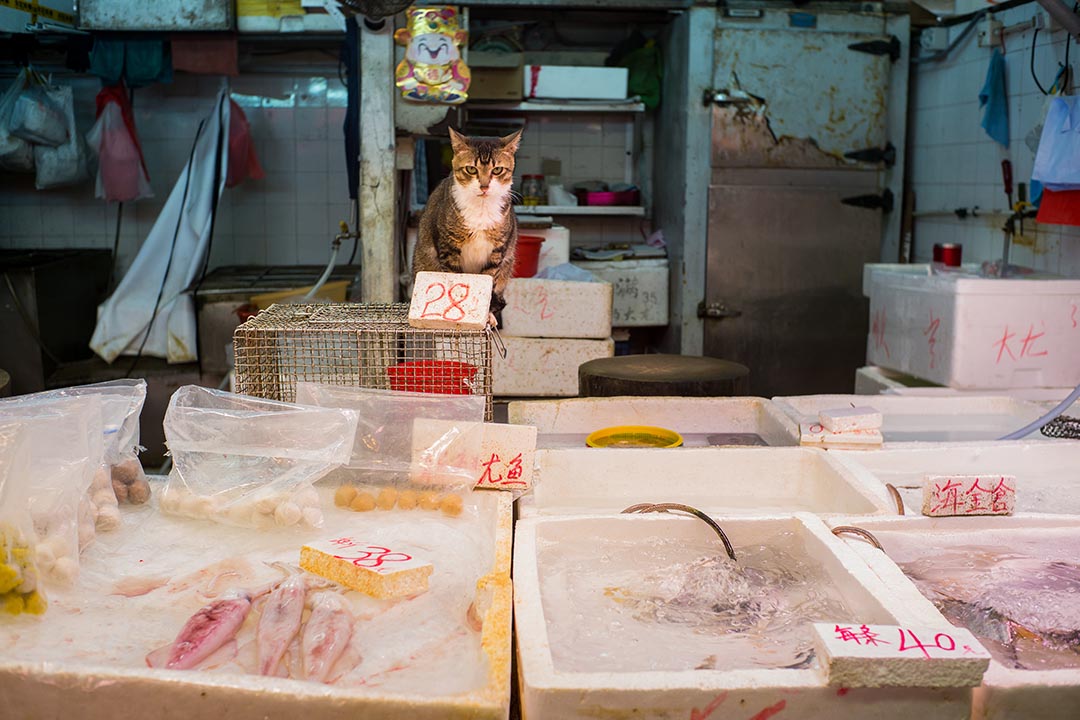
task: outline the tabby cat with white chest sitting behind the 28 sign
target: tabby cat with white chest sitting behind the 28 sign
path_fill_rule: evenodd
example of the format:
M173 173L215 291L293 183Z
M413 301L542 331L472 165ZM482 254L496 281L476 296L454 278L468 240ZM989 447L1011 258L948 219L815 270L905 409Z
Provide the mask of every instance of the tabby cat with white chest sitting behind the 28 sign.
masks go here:
M450 128L454 169L428 198L413 255L418 272L491 275L491 320L507 305L514 272L517 218L511 203L514 153L522 131L505 137L467 137Z

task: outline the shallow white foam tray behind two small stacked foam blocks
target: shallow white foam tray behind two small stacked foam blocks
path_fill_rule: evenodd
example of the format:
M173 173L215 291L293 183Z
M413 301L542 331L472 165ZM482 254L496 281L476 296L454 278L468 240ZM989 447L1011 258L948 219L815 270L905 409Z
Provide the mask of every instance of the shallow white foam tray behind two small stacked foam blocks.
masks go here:
M908 397L901 395L799 395L772 400L796 424L812 425L818 413L831 408L868 405L883 418L886 447L918 441L993 440L1042 417L1034 403L1012 397ZM1038 439L1035 431L1028 438Z

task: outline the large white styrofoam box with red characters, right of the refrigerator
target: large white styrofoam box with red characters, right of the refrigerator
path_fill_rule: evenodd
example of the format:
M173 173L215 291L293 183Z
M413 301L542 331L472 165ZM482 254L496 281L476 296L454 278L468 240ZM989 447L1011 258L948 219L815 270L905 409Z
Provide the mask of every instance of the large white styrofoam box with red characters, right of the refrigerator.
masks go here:
M950 388L1080 383L1080 280L901 268L869 264L863 273L870 299L867 362Z

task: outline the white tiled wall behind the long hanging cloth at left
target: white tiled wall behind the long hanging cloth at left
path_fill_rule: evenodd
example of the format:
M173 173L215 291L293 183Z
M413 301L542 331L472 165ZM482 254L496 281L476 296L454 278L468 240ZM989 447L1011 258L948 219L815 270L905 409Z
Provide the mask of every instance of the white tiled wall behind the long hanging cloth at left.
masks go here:
M323 72L324 76L318 73ZM58 77L75 89L77 122L94 122L94 78ZM210 112L218 78L177 73L170 85L135 94L135 122L154 196L125 203L119 269L126 270L187 162L199 122ZM341 124L346 92L333 67L307 74L247 73L232 80L233 99L251 123L260 180L226 189L211 267L321 264L339 220L349 219ZM112 247L117 204L94 198L93 181L38 191L32 176L0 174L0 247Z

